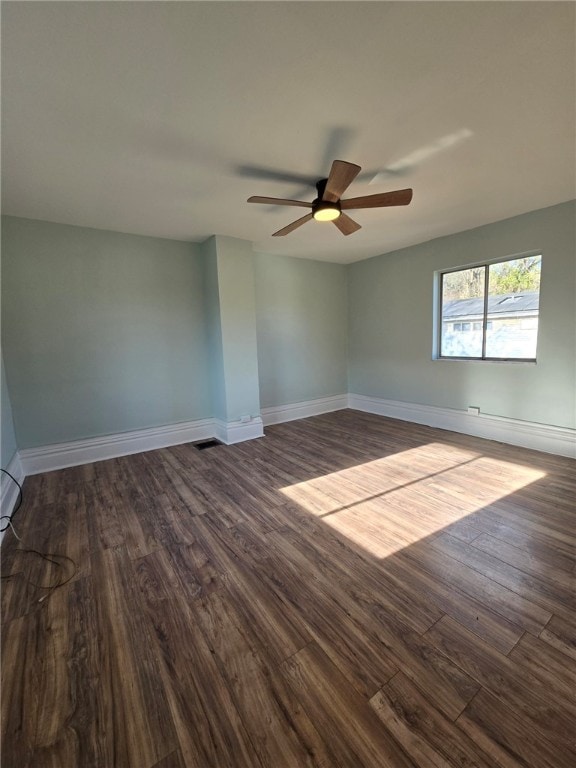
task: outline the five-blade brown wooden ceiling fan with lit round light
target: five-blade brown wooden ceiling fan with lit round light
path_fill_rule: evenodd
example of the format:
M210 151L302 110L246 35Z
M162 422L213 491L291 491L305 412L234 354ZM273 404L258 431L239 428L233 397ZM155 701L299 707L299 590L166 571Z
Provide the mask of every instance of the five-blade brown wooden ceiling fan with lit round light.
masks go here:
M334 160L328 178L320 179L316 182L318 197L311 203L304 202L304 200L285 200L277 197L258 196L249 197L248 202L263 203L264 205L294 205L300 208L312 209L311 213L307 213L301 219L296 219L292 224L288 224L287 227L274 232L272 237L288 235L311 219L331 221L343 235L351 235L361 227L344 211L358 208L384 208L391 205L408 205L410 200L412 200L411 189L397 189L395 192L382 192L381 194L349 197L347 200L342 200L342 195L361 170L360 166L354 165L354 163L347 163L345 160Z

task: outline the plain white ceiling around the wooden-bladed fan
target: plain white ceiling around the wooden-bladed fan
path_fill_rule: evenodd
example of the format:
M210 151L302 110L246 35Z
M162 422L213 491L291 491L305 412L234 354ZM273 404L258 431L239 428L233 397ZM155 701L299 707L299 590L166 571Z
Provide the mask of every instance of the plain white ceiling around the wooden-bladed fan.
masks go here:
M572 199L575 10L4 2L3 212L347 263ZM335 158L413 202L270 237Z

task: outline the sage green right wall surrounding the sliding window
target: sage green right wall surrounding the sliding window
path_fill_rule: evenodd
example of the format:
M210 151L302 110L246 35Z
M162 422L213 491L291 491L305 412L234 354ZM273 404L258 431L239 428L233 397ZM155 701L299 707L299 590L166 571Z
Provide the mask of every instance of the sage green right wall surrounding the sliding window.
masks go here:
M576 426L574 201L349 266L350 392ZM432 360L436 270L543 255L537 364Z

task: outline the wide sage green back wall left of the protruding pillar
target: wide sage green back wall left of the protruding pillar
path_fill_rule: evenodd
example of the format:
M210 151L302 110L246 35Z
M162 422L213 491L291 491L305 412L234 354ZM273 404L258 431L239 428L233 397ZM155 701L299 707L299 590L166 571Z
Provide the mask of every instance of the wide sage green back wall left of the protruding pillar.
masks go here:
M2 221L19 448L211 416L198 247Z

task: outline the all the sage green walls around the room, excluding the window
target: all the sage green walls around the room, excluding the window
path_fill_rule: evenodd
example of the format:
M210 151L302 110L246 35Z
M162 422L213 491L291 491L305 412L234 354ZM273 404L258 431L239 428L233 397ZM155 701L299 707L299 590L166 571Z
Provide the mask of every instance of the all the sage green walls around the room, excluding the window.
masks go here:
M2 462L347 391L574 427L575 206L349 266L3 217ZM433 361L434 272L534 250L538 363Z

